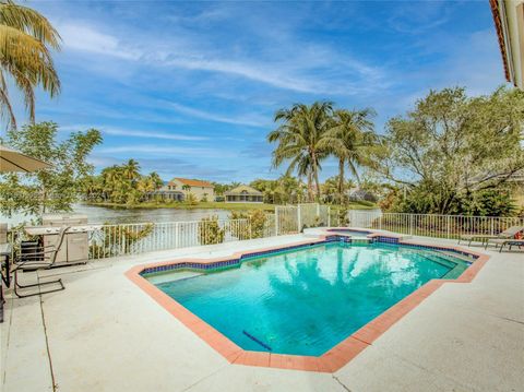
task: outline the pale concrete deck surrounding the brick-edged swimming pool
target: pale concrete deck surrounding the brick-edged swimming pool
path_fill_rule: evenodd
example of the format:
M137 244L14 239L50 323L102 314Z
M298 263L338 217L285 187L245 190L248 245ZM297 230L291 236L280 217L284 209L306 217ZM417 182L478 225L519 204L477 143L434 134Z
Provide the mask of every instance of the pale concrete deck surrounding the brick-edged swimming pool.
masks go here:
M472 247L491 256L472 283L441 286L335 373L231 365L124 276L138 264L229 256L303 238L229 242L46 271L40 276L59 274L67 289L24 299L8 293L2 391L53 391L53 383L57 391L74 392L522 390L523 252Z

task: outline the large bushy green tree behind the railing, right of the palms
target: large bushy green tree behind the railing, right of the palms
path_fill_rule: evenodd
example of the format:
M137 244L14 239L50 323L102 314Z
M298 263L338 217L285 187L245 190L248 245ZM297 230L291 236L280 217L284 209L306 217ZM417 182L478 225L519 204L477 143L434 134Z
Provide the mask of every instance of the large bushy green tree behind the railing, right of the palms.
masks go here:
M524 92L431 91L388 122L374 169L403 188L394 210L467 213L478 194L511 188L511 177L524 169L523 128Z

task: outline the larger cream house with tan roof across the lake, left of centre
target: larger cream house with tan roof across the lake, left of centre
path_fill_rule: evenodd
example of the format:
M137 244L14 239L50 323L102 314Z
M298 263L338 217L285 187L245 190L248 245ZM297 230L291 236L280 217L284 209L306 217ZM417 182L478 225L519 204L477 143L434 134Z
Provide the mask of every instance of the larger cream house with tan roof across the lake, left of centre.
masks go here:
M175 177L156 192L152 192L152 195L159 195L164 200L183 201L189 193L199 201L215 200L215 187L212 183L181 177Z

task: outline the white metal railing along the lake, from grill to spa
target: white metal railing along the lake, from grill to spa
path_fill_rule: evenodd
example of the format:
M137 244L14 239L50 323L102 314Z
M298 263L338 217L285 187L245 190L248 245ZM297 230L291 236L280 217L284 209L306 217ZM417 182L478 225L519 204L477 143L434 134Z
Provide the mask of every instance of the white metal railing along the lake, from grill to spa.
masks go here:
M87 225L87 233L83 233L87 238L87 250L84 240L81 245L83 250L79 252L88 252L90 260L97 260L299 233L303 227L329 225L329 206L300 204L277 206L275 214L266 214L261 219L253 218L253 222L249 218L204 218L193 222ZM28 239L31 237L23 229L12 231L11 242L15 249L20 249L21 242Z

